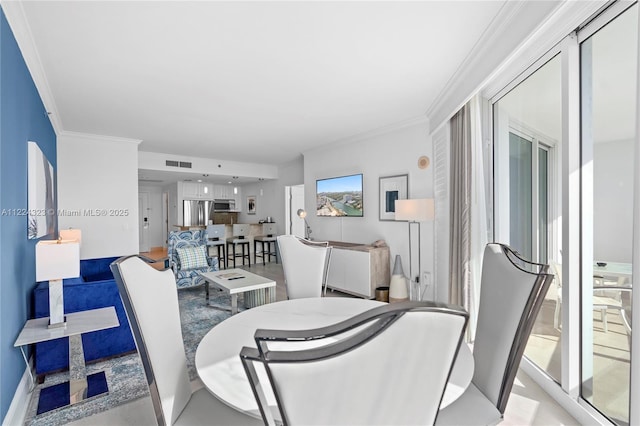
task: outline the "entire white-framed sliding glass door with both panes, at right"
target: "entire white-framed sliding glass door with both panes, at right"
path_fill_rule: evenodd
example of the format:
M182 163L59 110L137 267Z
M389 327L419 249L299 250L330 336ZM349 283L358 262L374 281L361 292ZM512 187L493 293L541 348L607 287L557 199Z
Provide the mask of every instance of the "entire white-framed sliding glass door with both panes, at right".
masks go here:
M491 101L494 239L555 275L528 371L620 425L640 412L630 391L638 22L637 3L608 5Z

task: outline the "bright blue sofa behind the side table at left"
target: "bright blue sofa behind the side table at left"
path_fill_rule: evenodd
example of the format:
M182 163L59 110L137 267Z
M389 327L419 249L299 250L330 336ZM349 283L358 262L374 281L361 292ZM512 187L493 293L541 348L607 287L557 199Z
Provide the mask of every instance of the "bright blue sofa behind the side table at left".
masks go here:
M80 261L80 277L65 279L65 313L115 306L119 327L82 335L86 362L130 353L136 344L122 306L118 286L109 265L117 257ZM36 318L49 316L49 282L39 282L34 290ZM61 338L35 345L36 374L43 375L69 367L69 339Z

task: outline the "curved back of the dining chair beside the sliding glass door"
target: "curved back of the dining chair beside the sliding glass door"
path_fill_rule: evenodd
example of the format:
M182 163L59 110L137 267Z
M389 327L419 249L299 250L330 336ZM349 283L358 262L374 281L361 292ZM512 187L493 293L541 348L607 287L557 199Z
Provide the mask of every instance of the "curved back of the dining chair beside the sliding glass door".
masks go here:
M548 265L522 259L511 248L487 244L473 347L473 383L504 413L544 296L553 281Z

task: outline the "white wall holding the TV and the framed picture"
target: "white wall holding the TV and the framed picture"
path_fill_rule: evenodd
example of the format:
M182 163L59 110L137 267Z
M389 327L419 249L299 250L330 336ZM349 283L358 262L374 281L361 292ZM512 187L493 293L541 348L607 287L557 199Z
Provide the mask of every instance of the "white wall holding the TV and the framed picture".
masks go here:
M409 175L409 198L433 198L432 167L418 168L421 155L431 157L429 123L425 120L388 133L369 136L349 144L332 145L304 154L305 209L316 211L316 179L355 173L363 174L364 217L317 217L307 220L316 240L372 243L385 240L391 249L391 266L396 254L402 257L405 274L409 273L409 228L407 222L380 221L379 178ZM415 229L414 229L415 232ZM421 268L433 271L433 223L421 225ZM414 269L417 265L414 265ZM427 290L427 294L431 289Z

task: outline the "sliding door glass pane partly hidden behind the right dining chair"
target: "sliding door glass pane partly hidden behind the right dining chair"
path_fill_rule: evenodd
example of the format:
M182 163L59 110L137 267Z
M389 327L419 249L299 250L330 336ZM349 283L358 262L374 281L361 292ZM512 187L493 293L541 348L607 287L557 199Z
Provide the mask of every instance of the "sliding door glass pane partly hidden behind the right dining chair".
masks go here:
M560 57L542 65L494 103L497 241L534 262L560 264L555 173L562 134ZM552 284L525 355L560 380L560 281Z

